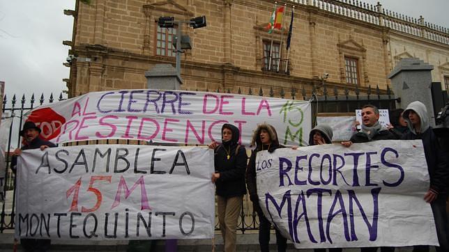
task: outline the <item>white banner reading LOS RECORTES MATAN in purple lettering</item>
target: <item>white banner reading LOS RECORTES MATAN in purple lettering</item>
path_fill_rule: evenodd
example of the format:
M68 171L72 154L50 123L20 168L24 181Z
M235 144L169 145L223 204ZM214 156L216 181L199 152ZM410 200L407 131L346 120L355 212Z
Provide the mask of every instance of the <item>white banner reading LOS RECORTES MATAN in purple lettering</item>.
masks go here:
M256 168L265 216L297 249L438 244L420 140L262 151Z

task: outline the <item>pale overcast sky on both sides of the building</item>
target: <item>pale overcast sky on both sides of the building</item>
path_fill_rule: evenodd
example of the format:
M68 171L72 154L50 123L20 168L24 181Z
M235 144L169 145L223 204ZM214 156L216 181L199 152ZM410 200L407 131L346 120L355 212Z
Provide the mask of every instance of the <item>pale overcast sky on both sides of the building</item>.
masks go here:
M375 4L376 0L365 0ZM93 0L95 3L95 0ZM449 0L388 0L384 8L449 28ZM0 1L0 81L6 82L8 100L16 93L55 96L66 90L66 61L72 39L73 17L63 15L74 9L75 0ZM268 17L267 17L268 18ZM55 97L56 98L56 97Z

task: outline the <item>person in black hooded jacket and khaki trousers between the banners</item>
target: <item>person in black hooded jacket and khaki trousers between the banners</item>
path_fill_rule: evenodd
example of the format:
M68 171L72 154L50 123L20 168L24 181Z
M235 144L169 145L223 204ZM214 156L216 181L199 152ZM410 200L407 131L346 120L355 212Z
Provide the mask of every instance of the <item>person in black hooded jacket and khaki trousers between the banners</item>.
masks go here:
M236 251L236 228L246 194L245 170L248 156L245 147L238 144L240 132L234 125L222 126L222 143L208 145L214 149L215 173L212 182L216 185L218 198L218 220L225 244L225 251Z

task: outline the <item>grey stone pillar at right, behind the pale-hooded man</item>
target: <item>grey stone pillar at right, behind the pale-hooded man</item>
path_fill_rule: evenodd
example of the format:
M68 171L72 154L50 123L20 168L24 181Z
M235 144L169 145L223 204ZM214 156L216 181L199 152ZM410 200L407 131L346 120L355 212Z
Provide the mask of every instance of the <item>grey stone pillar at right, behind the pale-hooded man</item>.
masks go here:
M405 109L410 102L420 101L427 107L429 122L435 126L434 105L432 103L433 65L419 58L402 58L395 69L388 74L395 97L400 98L397 107Z

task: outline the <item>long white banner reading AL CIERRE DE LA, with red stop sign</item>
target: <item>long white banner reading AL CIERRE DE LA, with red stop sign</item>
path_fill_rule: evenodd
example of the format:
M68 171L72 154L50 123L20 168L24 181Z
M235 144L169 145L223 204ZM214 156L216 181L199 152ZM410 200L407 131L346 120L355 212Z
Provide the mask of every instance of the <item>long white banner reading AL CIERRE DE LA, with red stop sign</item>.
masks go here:
M43 139L54 143L132 139L208 144L221 139L224 123L249 145L257 123L275 127L284 145L307 145L310 102L181 90L114 90L87 93L26 114Z

